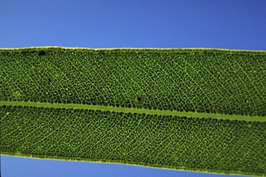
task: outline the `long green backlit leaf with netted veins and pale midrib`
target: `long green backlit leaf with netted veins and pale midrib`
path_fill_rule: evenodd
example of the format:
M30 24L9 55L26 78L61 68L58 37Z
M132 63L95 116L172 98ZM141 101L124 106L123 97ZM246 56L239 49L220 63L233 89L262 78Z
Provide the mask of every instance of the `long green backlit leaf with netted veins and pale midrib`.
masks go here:
M266 174L266 51L1 48L1 154Z

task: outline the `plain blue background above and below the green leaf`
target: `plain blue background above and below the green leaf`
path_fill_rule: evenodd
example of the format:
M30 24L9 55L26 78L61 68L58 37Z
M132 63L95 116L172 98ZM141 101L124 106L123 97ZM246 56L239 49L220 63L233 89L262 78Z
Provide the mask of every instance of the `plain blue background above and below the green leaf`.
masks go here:
M0 48L266 50L266 1L1 0ZM226 176L1 156L6 176Z

